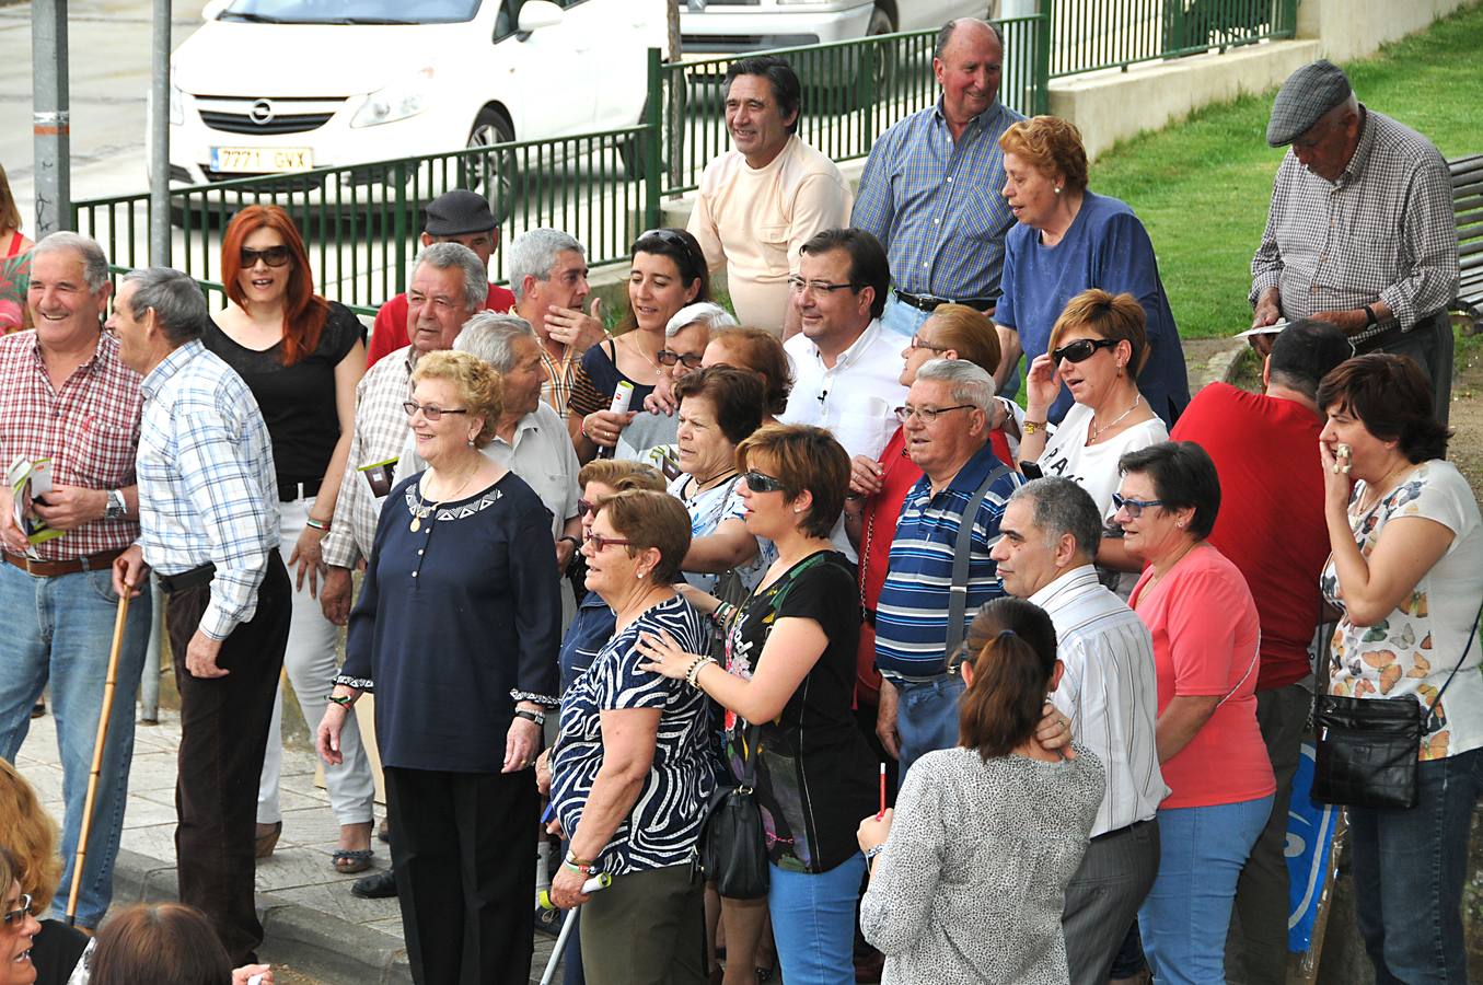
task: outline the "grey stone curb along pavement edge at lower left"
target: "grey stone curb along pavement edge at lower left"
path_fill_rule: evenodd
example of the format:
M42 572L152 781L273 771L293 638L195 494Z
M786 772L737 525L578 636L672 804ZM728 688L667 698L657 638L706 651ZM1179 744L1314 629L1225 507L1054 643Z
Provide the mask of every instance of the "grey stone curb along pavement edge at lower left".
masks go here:
M114 902L122 903L178 899L175 866L120 849L113 869L113 895ZM271 893L257 895L257 911L262 921L264 960L338 982L406 985L412 981L406 948L399 938L285 902Z

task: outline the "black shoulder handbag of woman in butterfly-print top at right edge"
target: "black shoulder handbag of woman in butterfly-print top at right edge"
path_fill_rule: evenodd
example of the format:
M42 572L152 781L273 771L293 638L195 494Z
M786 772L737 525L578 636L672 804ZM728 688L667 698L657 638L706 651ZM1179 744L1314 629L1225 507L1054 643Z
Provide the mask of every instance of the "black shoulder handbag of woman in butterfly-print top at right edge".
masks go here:
M1467 660L1477 626L1474 619L1462 656L1431 705L1422 706L1415 694L1391 699L1317 696L1314 803L1398 810L1416 806L1421 737L1437 702Z

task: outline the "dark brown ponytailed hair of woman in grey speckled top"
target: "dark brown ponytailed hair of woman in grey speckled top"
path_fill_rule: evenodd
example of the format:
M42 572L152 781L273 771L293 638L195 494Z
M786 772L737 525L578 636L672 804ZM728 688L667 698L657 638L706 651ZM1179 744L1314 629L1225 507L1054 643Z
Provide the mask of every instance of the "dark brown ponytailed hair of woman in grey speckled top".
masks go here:
M1056 671L1056 627L1038 605L1017 598L986 602L967 639L973 684L958 712L958 745L988 761L1035 734Z

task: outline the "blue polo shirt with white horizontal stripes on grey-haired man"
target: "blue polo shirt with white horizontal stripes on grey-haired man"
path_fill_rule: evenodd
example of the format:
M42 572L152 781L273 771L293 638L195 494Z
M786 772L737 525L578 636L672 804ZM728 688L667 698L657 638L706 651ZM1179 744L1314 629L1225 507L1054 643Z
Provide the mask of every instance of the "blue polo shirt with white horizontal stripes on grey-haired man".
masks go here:
M881 672L930 676L946 668L948 593L958 525L968 500L998 464L994 448L985 445L937 495L927 476L906 494L875 611L875 666ZM979 607L1004 595L998 564L989 552L1000 538L1004 504L1023 482L1017 472L1001 475L973 518L965 633Z

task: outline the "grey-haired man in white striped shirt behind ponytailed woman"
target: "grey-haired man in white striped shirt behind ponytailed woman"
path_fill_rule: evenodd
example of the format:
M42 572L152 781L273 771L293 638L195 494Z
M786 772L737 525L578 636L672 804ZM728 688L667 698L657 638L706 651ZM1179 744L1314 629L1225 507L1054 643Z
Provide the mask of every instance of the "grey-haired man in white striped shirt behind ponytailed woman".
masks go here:
M1071 718L1072 739L1106 770L1091 844L1066 887L1062 929L1072 985L1103 985L1112 958L1158 874L1158 803L1169 794L1154 727L1154 641L1127 604L1097 580L1097 504L1071 479L1037 479L1014 491L1000 521L1004 590L1040 605L1056 626L1066 668L1050 700Z

